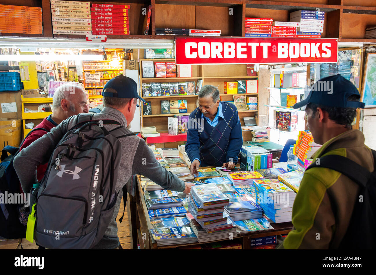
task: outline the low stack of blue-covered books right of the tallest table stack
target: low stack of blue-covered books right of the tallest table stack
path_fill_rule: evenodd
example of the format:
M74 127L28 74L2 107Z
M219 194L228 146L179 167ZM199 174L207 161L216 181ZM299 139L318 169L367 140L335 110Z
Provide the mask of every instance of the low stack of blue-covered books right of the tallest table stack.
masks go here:
M242 221L249 219L258 219L262 217L262 208L253 200L230 202L224 207L224 211L230 215L233 221Z

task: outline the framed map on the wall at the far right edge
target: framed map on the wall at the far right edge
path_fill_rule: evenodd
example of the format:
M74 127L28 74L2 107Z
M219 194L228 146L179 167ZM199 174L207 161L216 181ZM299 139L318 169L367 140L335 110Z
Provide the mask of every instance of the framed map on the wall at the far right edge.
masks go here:
M370 52L365 58L364 79L362 85L362 102L365 108L376 107L376 52Z

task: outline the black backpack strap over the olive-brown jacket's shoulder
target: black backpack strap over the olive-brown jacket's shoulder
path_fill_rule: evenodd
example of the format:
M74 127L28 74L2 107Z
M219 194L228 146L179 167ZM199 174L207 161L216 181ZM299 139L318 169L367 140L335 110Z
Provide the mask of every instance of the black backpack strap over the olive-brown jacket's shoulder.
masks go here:
M375 152L372 153L375 158ZM319 161L320 162L318 164L312 162L312 164L307 167L306 171L313 167L329 168L331 170L340 172L363 187L367 185L368 179L370 179L372 176L372 173L363 166L341 155L326 155L324 157L320 157Z

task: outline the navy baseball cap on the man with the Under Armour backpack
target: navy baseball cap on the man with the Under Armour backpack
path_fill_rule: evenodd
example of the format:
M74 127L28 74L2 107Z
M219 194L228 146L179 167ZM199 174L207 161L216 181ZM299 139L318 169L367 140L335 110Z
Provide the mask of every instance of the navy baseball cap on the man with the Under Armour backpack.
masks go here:
M117 91L117 94L105 92L107 88ZM118 98L138 98L142 102L146 102L137 92L137 83L132 78L125 75L118 75L109 80L103 87L102 96L118 97ZM137 107L139 107L137 105Z

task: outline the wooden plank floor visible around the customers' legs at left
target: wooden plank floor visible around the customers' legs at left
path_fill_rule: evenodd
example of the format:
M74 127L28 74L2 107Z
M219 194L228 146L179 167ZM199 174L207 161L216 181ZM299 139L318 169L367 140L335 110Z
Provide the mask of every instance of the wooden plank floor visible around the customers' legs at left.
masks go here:
M123 249L133 249L132 229L128 207L126 207L125 209L123 222L119 223L119 218L121 217L121 215L123 215L123 199L121 199L120 210L116 219L118 224L118 237ZM21 249L19 242L19 239L0 241L0 249ZM35 244L35 242L31 243L26 239L22 239L22 247L23 249L38 249L38 246Z

